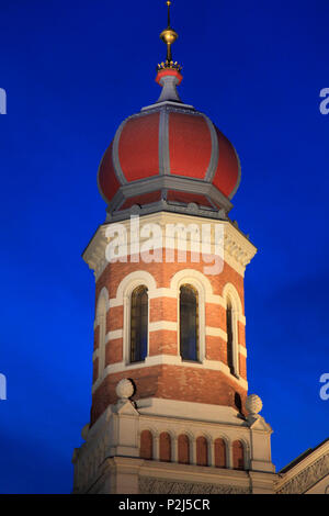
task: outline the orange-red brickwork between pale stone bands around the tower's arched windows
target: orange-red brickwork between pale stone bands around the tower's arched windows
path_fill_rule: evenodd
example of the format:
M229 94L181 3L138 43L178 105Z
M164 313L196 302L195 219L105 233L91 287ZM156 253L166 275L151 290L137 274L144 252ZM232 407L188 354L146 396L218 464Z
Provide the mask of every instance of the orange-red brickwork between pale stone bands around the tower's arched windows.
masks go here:
M189 257L189 255L188 255ZM182 269L193 269L203 272L204 263L109 263L97 282L97 300L103 287L109 291L109 298L115 299L121 281L131 272L144 270L152 274L157 288L170 288L172 277ZM243 278L229 265L218 276L207 276L213 288L213 294L222 295L224 287L232 283L239 293L243 310ZM157 298L149 301L149 322L178 319L178 300L173 298ZM124 324L123 305L113 306L106 314L106 334L122 329ZM220 328L223 336L205 336L206 359L227 363L227 349L224 335L226 333L225 309L216 303L205 304L205 326ZM239 344L246 345L245 326L238 323ZM94 349L99 346L99 327L94 333ZM159 329L149 333L149 356L179 355L178 335L172 329ZM110 340L105 347L105 367L123 361L123 338ZM246 358L239 354L240 375L246 379ZM98 359L93 368L93 381L98 378ZM105 377L92 396L91 422L103 413L109 404L116 403L115 385L122 378L132 378L136 384L135 399L149 396L181 400L197 403L211 403L236 407L236 394L246 399L246 390L222 371L202 367L155 366L133 369Z

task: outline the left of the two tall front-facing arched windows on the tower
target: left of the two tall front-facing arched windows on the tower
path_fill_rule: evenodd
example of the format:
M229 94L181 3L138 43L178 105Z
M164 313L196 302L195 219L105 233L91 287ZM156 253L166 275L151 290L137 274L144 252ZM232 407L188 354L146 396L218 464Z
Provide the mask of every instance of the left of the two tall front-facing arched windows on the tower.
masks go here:
M145 285L132 293L131 362L141 362L147 356L148 294Z

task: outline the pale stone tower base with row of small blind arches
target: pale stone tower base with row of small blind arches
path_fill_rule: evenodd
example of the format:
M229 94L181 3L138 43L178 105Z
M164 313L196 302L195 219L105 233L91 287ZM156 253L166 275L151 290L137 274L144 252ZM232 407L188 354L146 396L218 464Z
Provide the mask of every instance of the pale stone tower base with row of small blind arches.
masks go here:
M73 453L73 493L90 494L274 494L276 475L271 462L271 427L257 415L246 418L231 407L143 400L140 406L120 400L109 406ZM143 433L151 436L151 457ZM163 459L161 436L170 439ZM182 459L180 437L189 439ZM207 465L200 465L197 441L206 441ZM218 467L215 442L225 442L225 465ZM234 442L243 444L243 465L236 469ZM188 463L182 463L182 460Z

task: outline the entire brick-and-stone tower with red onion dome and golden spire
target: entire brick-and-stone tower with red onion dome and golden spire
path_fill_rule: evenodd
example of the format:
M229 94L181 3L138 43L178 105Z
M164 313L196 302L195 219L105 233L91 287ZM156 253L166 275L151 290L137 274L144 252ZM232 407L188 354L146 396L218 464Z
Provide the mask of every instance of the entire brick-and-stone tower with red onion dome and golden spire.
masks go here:
M93 385L77 493L273 493L271 427L248 396L243 277L257 249L231 222L232 144L181 101L170 24L157 102L124 120L98 184Z

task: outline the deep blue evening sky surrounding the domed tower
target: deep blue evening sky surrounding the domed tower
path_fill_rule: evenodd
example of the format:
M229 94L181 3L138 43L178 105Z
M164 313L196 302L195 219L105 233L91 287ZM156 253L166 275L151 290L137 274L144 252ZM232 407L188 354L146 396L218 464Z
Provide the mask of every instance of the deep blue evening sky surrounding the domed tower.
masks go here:
M120 122L157 100L162 0L0 0L0 492L68 493L89 420L94 280L81 253ZM259 253L246 274L250 392L277 469L328 437L327 0L175 0L182 100L231 139L231 216Z

